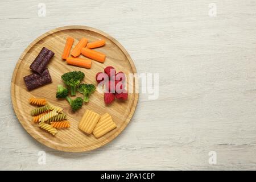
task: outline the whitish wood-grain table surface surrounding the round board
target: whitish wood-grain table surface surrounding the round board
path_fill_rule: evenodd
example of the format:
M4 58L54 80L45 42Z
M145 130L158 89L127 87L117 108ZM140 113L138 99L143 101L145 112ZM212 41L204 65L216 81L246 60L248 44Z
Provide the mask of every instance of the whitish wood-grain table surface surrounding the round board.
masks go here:
M0 169L256 169L255 10L255 0L0 1ZM138 73L159 73L158 100L141 94L119 137L79 154L30 137L10 98L28 44L72 24L112 35Z

